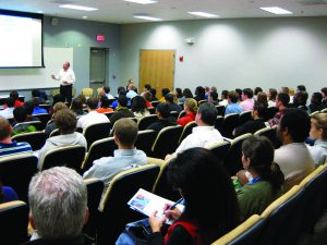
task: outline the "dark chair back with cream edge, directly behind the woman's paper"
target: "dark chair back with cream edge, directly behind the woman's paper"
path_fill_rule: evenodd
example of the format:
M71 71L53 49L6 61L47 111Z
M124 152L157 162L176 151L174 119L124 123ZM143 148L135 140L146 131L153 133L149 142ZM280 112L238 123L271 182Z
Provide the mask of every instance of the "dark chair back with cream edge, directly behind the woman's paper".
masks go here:
M99 207L97 245L114 244L126 223L145 218L132 210L128 201L140 189L152 189L160 168L146 164L117 174L110 182Z

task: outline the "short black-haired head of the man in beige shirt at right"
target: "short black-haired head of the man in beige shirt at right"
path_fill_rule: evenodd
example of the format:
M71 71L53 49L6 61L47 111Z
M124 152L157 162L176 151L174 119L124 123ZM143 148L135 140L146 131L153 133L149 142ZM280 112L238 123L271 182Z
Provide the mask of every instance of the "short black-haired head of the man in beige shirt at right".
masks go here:
M277 128L277 135L280 137L283 145L291 143L303 143L310 132L308 114L296 108L284 110L283 117Z

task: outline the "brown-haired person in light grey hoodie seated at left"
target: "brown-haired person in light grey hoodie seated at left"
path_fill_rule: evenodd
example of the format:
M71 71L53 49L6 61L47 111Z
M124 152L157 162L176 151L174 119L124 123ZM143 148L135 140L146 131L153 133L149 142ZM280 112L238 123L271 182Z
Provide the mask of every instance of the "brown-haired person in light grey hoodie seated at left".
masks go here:
M51 149L69 145L81 145L87 149L87 143L84 135L75 132L77 120L75 114L70 109L61 109L57 111L55 115L55 123L60 135L49 137L44 147L37 151L38 169L41 168L40 164L44 156Z

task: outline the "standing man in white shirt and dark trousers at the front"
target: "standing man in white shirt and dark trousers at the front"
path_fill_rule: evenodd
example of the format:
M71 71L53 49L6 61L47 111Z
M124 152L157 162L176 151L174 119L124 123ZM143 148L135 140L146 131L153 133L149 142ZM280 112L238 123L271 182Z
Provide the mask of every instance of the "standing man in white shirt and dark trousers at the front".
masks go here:
M72 102L73 84L75 82L75 73L70 69L70 62L65 61L58 75L51 75L52 79L60 81L60 94L69 103Z

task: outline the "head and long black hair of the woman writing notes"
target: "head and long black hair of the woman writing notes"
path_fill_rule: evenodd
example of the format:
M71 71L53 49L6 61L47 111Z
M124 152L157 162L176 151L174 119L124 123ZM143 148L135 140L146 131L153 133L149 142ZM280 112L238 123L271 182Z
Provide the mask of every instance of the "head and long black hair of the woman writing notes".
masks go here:
M203 244L211 244L238 225L240 210L231 179L208 149L196 147L178 154L167 167L167 180L185 200L180 219L198 224ZM210 195L203 191L208 188ZM210 211L204 211L204 199Z

